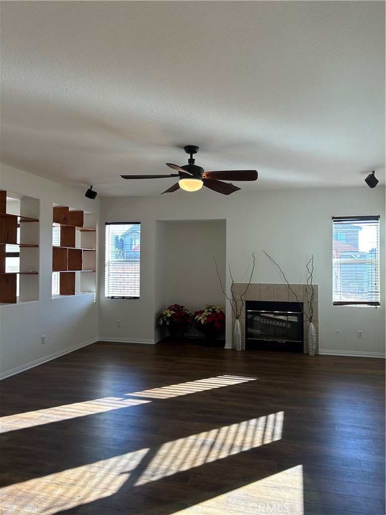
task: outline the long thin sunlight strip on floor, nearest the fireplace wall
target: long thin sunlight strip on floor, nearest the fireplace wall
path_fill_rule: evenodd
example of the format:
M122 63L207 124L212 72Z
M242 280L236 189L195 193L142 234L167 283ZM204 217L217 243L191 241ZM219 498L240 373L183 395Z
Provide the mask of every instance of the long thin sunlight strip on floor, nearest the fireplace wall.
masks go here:
M52 422L60 422L62 420L70 420L77 417L85 417L87 415L96 415L114 409L130 408L132 406L152 402L152 400L171 399L189 393L199 393L205 390L212 390L213 388L245 383L247 381L256 381L256 377L220 375L218 377L208 377L207 379L199 379L197 381L188 381L176 385L126 393L124 397L104 397L91 401L37 409L28 411L27 413L18 413L2 417L0 421L0 433L7 433L9 431L16 431L22 428L35 427Z

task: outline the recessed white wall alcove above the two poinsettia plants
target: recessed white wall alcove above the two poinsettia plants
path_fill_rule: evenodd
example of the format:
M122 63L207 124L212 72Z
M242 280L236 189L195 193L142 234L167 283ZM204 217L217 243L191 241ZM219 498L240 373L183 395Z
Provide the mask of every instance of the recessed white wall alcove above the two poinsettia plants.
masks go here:
M191 312L206 304L225 308L213 260L225 284L225 235L225 220L156 221L156 312L175 303Z

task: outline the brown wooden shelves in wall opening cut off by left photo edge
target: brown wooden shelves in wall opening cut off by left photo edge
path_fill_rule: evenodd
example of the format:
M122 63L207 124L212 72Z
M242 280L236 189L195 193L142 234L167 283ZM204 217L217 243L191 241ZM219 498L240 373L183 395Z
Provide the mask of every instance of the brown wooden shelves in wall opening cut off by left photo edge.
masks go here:
M28 199L36 201L37 199ZM18 241L18 228L25 224L31 224L31 231L20 230L20 241ZM0 302L15 304L17 301L17 276L37 276L39 255L31 254L24 249L39 248L37 243L30 242L31 237L37 237L39 224L38 218L7 213L7 192L0 191ZM25 241L25 243L23 243ZM7 249L7 245L17 247L18 251L13 252ZM11 257L19 258L19 270L7 271L6 259ZM22 284L22 300L36 300L38 298L37 283L27 282ZM32 287L31 287L32 286Z

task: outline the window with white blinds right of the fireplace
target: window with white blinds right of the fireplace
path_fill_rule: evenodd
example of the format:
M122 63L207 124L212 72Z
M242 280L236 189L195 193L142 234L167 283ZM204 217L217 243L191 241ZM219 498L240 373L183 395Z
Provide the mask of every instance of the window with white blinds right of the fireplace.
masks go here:
M332 303L380 305L379 216L332 217Z

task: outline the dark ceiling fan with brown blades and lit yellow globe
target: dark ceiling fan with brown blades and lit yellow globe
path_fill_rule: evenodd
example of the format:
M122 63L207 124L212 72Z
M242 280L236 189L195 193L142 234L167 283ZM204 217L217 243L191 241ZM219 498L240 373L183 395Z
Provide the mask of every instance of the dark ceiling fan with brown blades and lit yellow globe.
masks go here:
M188 164L178 166L177 164L166 163L169 168L177 170L178 174L170 175L121 175L123 179L162 179L165 177L179 177L179 181L173 184L161 193L171 193L182 188L188 192L194 192L200 190L202 186L206 186L210 190L222 193L223 195L230 195L237 190L239 187L234 184L230 184L225 181L255 181L257 179L256 170L224 170L224 171L205 171L201 166L195 165L195 159L193 155L198 152L199 147L196 145L187 145L184 150L187 154L190 154ZM219 180L220 179L220 180Z

